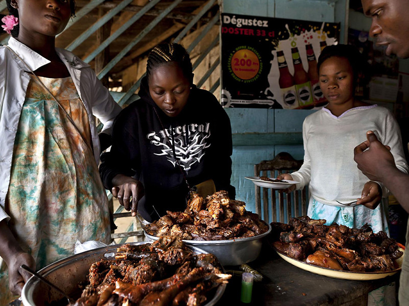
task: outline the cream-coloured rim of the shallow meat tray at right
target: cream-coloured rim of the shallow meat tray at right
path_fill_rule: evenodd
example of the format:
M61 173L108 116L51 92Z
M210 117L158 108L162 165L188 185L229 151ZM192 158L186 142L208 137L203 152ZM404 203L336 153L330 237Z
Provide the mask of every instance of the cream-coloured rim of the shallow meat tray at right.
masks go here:
M403 251L403 256L405 256L405 250L404 246L400 244L400 250ZM371 281L373 279L380 279L383 277L387 277L390 275L393 275L401 270L402 262L403 262L403 256L395 260L395 265L397 268L392 271L380 271L380 272L354 272L354 271L344 271L344 270L335 270L335 269L330 269L330 268L325 268L325 267L320 267L316 265L312 265L310 263L306 263L301 260L297 260L294 258L291 258L284 254L283 252L280 252L278 249L274 248L277 254L284 259L286 262L290 263L293 266L296 266L300 269L306 270L311 273L319 274L319 275L324 275L332 278L339 278L339 279L348 279L350 281Z

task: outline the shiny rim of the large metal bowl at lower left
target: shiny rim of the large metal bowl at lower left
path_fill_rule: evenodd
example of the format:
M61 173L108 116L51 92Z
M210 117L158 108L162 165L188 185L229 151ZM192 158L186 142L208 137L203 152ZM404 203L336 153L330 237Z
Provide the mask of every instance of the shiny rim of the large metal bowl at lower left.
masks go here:
M92 254L97 254L97 253L109 253L109 252L114 252L116 251L116 249L120 246L120 245L124 245L124 244L132 244L132 245L142 245L142 244L151 244L153 243L150 241L138 241L138 242L129 242L129 243L122 243L122 244L112 244L112 245L108 245L108 246L103 246L103 247L98 247L92 250L88 250L88 251L84 251L78 254L74 254L72 256L69 257L65 257L63 259L60 259L44 268L42 268L41 270L38 271L38 273L42 276L46 276L48 274L50 274L51 272L58 270L64 266L66 266L67 264L70 264L73 260L75 261L80 261L86 257L88 257L89 255ZM194 245L187 245L187 247L189 247L191 250L193 250L194 252L198 252L198 253L202 253L202 254L209 254L208 251L205 251L201 248L198 248ZM103 251L104 250L104 251ZM221 270L223 273L225 273L225 270L223 268L222 265L221 266ZM27 295L27 291L29 290L30 286L34 286L37 282L39 282L39 280L37 279L37 277L35 277L34 275L31 276L29 278L29 280L26 282L26 284L24 284L24 287L21 290L21 299L22 299L22 304L24 305L32 305L31 301L29 301L26 297ZM209 300L208 303L203 304L203 306L213 306L216 304L216 302L221 298L221 296L223 295L225 289L226 289L227 284L222 283L216 290L216 293L214 294L213 298L211 300Z

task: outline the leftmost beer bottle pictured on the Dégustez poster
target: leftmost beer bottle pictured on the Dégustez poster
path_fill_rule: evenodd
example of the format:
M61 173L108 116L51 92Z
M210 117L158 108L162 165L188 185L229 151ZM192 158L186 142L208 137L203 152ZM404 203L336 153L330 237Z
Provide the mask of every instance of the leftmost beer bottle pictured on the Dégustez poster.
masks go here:
M283 51L277 52L278 68L280 70L280 78L278 83L281 89L281 95L283 97L283 108L294 109L298 108L298 98L296 92L296 86L292 79L292 75L288 70L287 62L284 57Z

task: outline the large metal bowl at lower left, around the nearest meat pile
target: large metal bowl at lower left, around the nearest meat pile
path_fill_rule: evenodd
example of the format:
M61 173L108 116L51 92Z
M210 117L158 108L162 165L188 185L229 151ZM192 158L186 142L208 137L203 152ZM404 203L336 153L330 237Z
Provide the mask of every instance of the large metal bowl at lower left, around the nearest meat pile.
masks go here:
M130 244L141 245L150 242L133 242ZM101 259L113 259L120 245L110 245L85 251L64 259L61 259L38 271L39 274L46 277L51 283L65 291L71 297L79 295L78 284L86 281L89 267ZM188 245L195 254L208 253L195 246ZM223 295L226 284L221 284L215 295L205 306L213 306ZM24 285L21 298L25 306L44 306L52 301L58 301L64 296L48 285L32 276Z

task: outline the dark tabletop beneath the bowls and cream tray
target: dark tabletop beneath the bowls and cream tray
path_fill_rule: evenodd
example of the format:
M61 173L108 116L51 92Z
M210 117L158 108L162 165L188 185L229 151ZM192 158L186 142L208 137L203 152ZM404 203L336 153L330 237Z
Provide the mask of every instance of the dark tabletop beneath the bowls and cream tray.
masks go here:
M252 303L240 302L241 278L233 276L217 306L366 306L370 291L399 281L399 273L375 281L346 281L313 274L287 263L269 247L264 247L262 255L248 265L264 276L262 282L253 285ZM238 269L226 267L230 268Z

